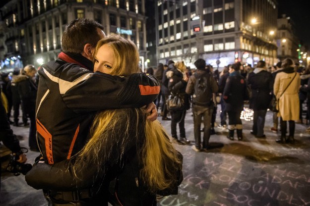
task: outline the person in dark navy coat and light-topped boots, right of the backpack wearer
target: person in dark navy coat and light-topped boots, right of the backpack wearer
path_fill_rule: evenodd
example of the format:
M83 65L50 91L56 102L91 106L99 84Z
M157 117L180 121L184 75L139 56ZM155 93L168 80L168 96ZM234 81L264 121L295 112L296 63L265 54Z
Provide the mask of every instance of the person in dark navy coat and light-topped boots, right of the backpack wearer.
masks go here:
M240 114L243 110L244 101L248 100L248 91L246 80L239 70L240 64L238 63L234 63L229 67L229 77L223 92L223 99L226 102L226 111L229 119L227 138L230 140L234 140L235 129L237 129L238 140L243 139Z

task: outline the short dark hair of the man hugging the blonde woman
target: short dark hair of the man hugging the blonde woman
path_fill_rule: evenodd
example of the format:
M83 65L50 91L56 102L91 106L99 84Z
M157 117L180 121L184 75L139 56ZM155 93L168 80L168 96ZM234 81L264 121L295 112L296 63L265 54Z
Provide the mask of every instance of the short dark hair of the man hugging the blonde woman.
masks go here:
M97 28L103 30L101 24L91 19L79 18L71 21L65 26L62 35L62 50L81 54L86 44L96 47L101 39Z

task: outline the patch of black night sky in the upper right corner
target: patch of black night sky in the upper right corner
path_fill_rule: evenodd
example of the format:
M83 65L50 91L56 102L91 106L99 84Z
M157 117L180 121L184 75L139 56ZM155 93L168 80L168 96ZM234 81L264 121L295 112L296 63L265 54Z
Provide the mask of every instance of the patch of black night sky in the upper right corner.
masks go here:
M286 14L294 21L296 35L310 49L310 0L278 0L279 17Z

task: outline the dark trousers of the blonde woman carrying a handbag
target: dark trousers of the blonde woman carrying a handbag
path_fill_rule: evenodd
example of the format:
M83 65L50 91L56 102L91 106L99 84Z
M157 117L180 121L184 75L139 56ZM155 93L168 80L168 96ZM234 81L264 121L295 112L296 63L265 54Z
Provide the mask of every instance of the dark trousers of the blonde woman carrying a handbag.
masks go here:
M171 113L171 136L175 139L178 139L177 124L179 123L180 137L186 137L184 127L186 110L171 111L170 113Z

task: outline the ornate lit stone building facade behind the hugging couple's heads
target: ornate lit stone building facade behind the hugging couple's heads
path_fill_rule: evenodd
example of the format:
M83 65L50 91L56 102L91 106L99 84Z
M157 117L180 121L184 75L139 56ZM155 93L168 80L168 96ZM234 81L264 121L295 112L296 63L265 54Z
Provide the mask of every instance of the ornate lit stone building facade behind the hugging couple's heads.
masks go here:
M65 25L82 17L101 23L106 35L131 39L145 59L144 8L145 0L10 0L0 8L0 59L19 55L37 66L56 59Z

